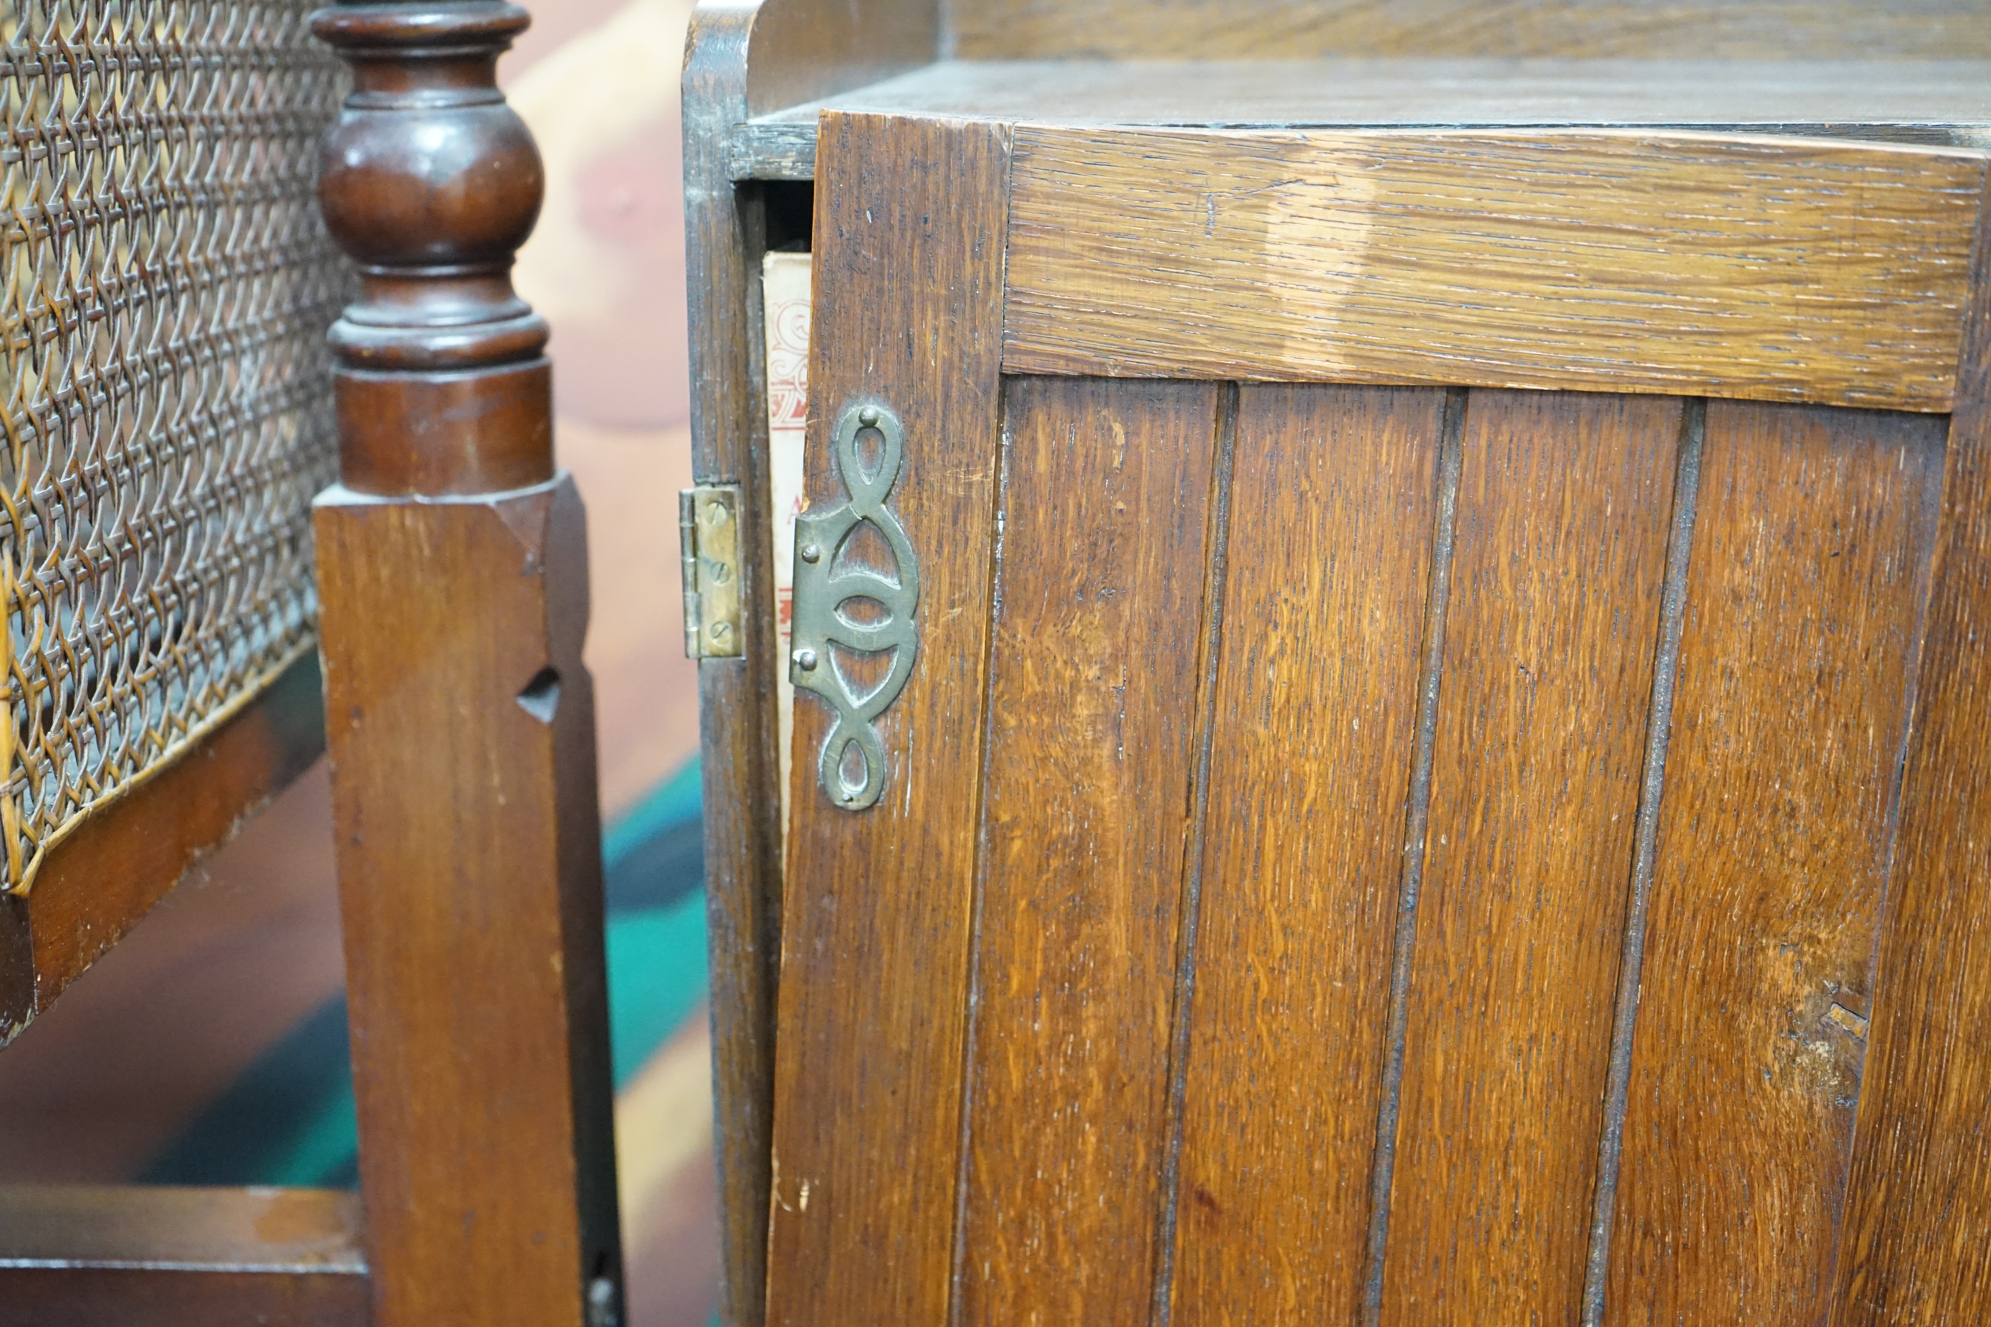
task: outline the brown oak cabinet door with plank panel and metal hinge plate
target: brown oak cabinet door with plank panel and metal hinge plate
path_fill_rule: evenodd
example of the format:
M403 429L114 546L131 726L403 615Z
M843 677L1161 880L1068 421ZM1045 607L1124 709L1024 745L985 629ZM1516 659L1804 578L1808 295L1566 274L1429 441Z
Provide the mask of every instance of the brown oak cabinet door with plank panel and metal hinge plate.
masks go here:
M773 1323L1991 1311L1981 153L816 161Z

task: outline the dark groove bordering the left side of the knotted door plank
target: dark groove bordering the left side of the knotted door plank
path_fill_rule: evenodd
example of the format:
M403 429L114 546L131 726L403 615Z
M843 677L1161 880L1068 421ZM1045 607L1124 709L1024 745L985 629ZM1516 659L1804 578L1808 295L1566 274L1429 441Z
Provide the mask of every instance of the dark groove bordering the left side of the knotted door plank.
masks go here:
M1680 629L1686 621L1686 567L1694 547L1694 501L1700 495L1700 448L1708 404L1688 400L1680 418L1680 462L1672 481L1672 533L1666 539L1666 589L1659 605L1659 645L1653 663L1653 704L1645 720L1645 778L1633 832L1631 911L1619 959L1617 1013L1611 1025L1611 1076L1605 1080L1605 1128L1597 1144L1597 1196L1591 1204L1591 1253L1583 1269L1583 1327L1605 1313L1605 1273L1611 1269L1611 1224L1617 1216L1619 1158L1625 1142L1625 1100L1631 1084L1633 1035L1639 1027L1639 983L1645 971L1645 929L1653 899L1653 853L1659 844L1659 804L1666 792L1666 742L1680 670Z

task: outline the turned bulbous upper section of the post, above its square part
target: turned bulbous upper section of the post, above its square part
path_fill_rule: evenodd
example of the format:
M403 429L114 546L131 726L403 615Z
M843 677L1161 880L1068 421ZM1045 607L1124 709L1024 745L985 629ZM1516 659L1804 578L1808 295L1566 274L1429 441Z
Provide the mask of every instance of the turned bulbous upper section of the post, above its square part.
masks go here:
M350 489L488 493L553 475L548 328L512 290L546 173L498 92L498 56L528 22L502 0L313 18L352 66L319 175L325 223L360 273L332 326Z

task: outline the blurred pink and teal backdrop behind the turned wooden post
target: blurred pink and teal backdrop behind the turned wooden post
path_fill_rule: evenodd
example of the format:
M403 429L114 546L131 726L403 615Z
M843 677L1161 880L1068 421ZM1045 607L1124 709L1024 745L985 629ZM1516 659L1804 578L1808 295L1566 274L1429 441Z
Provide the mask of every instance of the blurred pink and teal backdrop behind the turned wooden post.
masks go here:
M677 80L691 0L542 0L500 66L546 157L520 292L553 324L557 448L593 561L629 1317L719 1289L705 1023ZM0 1054L4 1182L354 1184L323 762Z

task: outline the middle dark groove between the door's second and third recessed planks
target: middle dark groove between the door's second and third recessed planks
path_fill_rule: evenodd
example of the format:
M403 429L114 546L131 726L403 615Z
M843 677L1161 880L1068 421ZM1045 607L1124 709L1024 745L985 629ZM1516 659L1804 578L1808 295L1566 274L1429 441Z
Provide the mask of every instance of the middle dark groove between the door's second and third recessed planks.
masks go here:
M1382 1092L1376 1102L1376 1154L1370 1164L1368 1249L1362 1271L1362 1327L1382 1321L1384 1255L1390 1247L1390 1192L1396 1184L1396 1124L1404 1088L1404 1035L1410 1017L1410 973L1418 949L1418 897L1424 885L1432 816L1432 758L1438 744L1438 690L1445 674L1445 613L1451 605L1451 549L1457 539L1459 460L1465 438L1463 388L1445 392L1438 456L1438 517L1432 523L1432 589L1424 605L1424 670L1418 686L1418 742L1412 752L1410 796L1404 802L1404 875L1398 887L1396 935L1390 951L1390 1005L1384 1023Z

